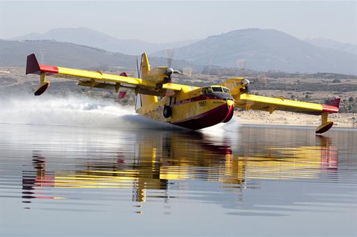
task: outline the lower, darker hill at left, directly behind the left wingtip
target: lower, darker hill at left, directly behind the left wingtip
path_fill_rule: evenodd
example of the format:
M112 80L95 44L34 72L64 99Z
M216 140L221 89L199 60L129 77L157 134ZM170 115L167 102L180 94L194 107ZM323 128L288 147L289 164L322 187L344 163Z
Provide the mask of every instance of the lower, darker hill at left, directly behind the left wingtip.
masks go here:
M136 56L52 40L0 40L0 66L26 66L27 55L35 53L41 61L43 52L44 63L55 66L84 69L107 66L136 68ZM167 66L167 59L149 57L149 60L151 66ZM172 62L172 66L179 70L183 67L199 68L191 63L176 60Z

